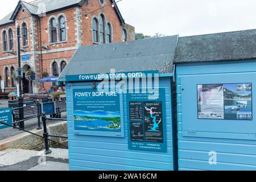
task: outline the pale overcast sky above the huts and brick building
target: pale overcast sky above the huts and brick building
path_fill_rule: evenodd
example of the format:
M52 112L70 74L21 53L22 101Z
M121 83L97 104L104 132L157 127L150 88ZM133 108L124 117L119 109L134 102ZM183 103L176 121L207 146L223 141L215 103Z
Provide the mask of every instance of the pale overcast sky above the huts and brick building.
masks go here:
M0 18L13 11L18 0L4 2ZM255 0L123 0L118 7L126 23L146 35L187 36L256 28Z

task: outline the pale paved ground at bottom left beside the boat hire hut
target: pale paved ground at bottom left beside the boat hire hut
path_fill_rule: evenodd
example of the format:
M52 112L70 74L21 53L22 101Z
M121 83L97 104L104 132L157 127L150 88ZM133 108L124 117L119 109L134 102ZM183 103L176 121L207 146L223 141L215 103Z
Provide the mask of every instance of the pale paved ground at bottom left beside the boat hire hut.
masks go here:
M68 150L44 151L8 149L0 152L0 171L68 171Z

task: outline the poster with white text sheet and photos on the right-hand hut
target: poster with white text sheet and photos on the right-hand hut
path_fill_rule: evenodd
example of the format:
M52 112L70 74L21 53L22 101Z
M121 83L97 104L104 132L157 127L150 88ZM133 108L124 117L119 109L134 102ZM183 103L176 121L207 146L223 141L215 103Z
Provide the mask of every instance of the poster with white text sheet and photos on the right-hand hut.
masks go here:
M252 84L197 85L198 118L253 120Z

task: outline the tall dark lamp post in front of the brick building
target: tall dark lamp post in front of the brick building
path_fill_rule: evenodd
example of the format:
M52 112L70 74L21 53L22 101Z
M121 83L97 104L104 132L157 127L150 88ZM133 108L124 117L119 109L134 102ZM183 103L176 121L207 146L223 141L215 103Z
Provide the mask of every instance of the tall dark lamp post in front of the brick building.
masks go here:
M21 63L20 63L20 31L19 31L19 26L17 27L17 43L18 43L18 78L19 78L19 120L24 119L24 108L23 108L23 103L24 99L22 97L22 75L21 75ZM19 123L20 129L24 129L24 121Z

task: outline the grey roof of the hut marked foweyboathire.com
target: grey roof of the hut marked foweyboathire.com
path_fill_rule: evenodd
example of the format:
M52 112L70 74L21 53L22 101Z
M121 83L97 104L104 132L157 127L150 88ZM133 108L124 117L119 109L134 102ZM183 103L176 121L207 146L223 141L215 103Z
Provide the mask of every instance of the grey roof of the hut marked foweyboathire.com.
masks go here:
M132 71L173 73L177 36L151 38L115 44L82 46L59 78L66 75Z

